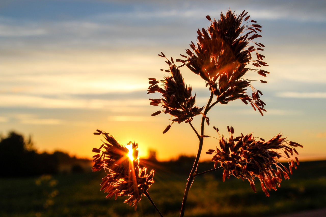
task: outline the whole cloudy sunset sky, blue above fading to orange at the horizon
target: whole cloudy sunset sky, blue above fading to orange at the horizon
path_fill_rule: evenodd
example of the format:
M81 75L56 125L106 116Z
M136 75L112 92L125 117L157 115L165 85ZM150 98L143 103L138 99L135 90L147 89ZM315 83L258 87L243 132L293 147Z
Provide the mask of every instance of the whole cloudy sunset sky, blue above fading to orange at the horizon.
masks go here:
M195 155L198 139L190 126L170 124L168 114L150 115L148 78L161 79L161 51L180 58L210 15L228 9L262 26L259 42L269 64L267 84L253 82L264 95L261 116L241 101L216 105L212 128L228 136L254 132L272 138L282 133L304 146L299 160L326 159L326 2L254 0L2 0L0 2L0 134L32 136L39 151L55 150L91 158L101 137L96 129L126 144L139 144L140 155L155 150L159 160ZM181 68L197 105L210 95L204 81ZM255 74L248 78L257 80ZM261 78L259 78L260 80ZM199 129L200 117L193 124ZM202 160L218 140L205 138Z

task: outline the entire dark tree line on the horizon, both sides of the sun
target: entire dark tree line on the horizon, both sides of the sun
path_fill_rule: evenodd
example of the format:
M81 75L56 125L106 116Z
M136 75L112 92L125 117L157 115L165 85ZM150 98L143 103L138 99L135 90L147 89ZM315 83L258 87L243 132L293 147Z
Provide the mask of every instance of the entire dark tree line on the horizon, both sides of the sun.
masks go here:
M148 158L142 158L141 164L156 171L170 171L175 174L187 174L195 156L180 155L175 160L160 162L156 159L156 151L149 150ZM66 152L39 153L34 147L32 138L25 138L15 131L6 137L0 136L0 177L27 177L43 174L90 172L92 162L89 159L70 156ZM200 170L207 170L212 162L202 162Z

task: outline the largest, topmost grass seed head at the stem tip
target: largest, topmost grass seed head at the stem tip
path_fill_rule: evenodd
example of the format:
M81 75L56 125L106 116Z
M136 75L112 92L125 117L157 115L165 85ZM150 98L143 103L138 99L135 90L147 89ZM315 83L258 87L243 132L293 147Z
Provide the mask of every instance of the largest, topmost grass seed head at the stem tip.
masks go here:
M268 71L257 69L268 66L262 61L265 56L259 53L263 51L264 45L254 41L261 37L258 34L261 26L254 20L248 21L249 16L244 11L239 16L231 10L226 15L221 13L218 21L212 21L209 16L206 18L211 21L211 25L207 29L198 29L197 45L191 42L192 51L187 49L187 56L181 55L187 59L177 61L206 80L220 103L241 99L245 104L251 103L262 115L262 111L266 110L258 95L261 92L251 86L251 81L243 78L247 71L255 71L264 77L269 74ZM252 56L257 59L253 60ZM257 68L250 68L249 64ZM248 87L253 94L247 94Z

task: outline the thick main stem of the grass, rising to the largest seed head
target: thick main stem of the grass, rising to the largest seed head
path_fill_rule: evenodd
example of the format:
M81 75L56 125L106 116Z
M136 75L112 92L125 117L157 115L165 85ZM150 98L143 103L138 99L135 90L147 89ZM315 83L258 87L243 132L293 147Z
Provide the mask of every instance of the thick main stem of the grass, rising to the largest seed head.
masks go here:
M207 105L205 107L205 110L204 110L204 115L207 114L207 112L209 111L209 109L211 109L212 107L210 107L210 104L212 102L212 99L213 99L213 96L214 94L211 92L211 96L207 102ZM205 124L205 118L204 118L204 115L202 116L201 118L201 125L200 125L200 136L203 136L204 135L204 124ZM192 125L190 125L192 126ZM194 128L193 128L194 129ZM197 132L197 131L195 131ZM198 134L198 133L197 133ZM198 135L197 135L198 136ZM194 162L194 166L192 167L191 169L191 172L189 174L189 179L187 181L187 185L185 187L185 194L184 194L184 198L182 200L182 205L181 205L181 211L180 211L180 217L183 217L184 214L185 214L185 203L187 201L187 197L188 197L188 193L189 193L189 190L190 190L190 187L192 185L192 182L194 181L194 174L196 173L196 170L197 170L197 167L198 167L198 163L199 163L199 158L200 158L200 153L201 153L201 150L202 150L202 147L203 147L203 143L204 143L204 138L203 137L198 137L199 139L199 146L198 146L198 152L197 152L197 155L196 155L196 159L195 159L195 162Z

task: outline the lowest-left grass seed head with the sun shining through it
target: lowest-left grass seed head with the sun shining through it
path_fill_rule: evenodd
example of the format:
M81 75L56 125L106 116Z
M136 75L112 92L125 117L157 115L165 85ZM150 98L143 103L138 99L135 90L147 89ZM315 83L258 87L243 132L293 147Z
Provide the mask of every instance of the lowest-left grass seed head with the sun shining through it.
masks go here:
M93 148L97 154L93 156L93 171L104 169L106 176L102 179L101 189L108 195L128 196L125 203L137 207L141 195L154 183L154 170L147 172L146 167L139 166L138 144L129 142L132 145L133 159L128 157L128 148L119 144L113 136L101 130L95 135L103 135L105 140L99 148Z

